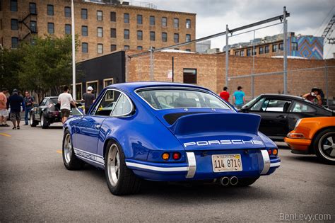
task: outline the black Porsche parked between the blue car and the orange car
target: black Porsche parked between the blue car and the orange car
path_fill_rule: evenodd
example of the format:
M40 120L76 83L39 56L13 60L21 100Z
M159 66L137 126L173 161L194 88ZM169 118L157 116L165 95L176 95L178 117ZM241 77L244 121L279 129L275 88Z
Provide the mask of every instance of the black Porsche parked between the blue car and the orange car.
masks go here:
M334 111L304 98L282 94L260 95L240 111L261 115L259 131L274 140L283 140L300 118L334 115Z

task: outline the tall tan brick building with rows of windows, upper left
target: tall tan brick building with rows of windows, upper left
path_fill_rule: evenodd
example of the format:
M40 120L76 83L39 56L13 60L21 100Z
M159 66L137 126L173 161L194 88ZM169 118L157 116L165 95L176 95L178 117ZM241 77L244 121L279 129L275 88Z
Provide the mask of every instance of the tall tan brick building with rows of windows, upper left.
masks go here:
M114 0L74 0L77 61L116 50L148 50L195 38L196 14L129 5ZM0 38L4 48L18 47L35 35L71 34L70 0L6 0L0 4ZM195 51L195 45L180 47Z

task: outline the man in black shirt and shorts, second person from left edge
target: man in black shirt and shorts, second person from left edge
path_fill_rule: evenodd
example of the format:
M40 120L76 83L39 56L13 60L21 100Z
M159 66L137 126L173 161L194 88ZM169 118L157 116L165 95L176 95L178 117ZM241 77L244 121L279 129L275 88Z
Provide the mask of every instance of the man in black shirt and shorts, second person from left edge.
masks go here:
M22 96L18 95L18 90L13 90L13 95L9 96L7 101L7 109L11 108L11 121L13 122L13 130L20 130L20 110L25 111L25 103L23 101ZM16 125L16 122L18 125Z

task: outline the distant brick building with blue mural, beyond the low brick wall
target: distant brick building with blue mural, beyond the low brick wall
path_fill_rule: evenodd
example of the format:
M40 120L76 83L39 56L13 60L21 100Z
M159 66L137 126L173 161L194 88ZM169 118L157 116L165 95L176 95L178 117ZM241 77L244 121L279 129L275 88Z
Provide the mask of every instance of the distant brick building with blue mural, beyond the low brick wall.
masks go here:
M322 37L288 33L288 56L323 59L323 42ZM257 57L283 56L283 34L236 43L230 45L229 49L230 55L242 57L252 57L252 55ZM223 47L224 51L225 47Z

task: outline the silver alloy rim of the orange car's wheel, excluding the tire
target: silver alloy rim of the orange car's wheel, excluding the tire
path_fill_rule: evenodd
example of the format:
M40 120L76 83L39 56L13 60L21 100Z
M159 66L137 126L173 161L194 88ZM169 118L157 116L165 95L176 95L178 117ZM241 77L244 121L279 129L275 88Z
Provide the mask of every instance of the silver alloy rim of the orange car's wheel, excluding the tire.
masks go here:
M327 132L319 139L319 151L324 158L335 161L335 132Z

